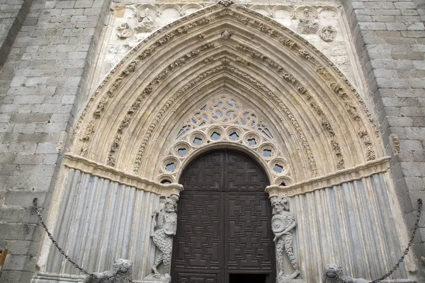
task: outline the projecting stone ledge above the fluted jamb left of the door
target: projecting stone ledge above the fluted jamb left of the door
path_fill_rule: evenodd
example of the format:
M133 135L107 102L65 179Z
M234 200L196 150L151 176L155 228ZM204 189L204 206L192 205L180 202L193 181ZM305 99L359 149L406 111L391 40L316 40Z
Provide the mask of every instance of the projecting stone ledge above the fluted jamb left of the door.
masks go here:
M182 185L176 183L167 185L157 183L146 178L118 171L115 168L104 166L81 156L65 154L62 164L67 168L77 169L84 173L89 173L100 178L105 178L120 184L135 187L138 190L153 192L157 195L180 195L180 192L183 190Z

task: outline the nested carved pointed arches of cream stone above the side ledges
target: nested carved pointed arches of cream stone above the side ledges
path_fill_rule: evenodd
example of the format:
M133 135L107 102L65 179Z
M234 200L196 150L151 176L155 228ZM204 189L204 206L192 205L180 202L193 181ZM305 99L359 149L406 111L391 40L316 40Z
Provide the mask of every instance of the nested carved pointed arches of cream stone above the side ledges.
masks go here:
M246 32L233 33L226 37L225 45L219 45L225 31L222 23L229 18L232 21L227 30ZM261 51L254 49L260 45L244 44L251 38L248 33L261 35L256 40L268 47ZM174 47L179 37L185 38L185 50ZM157 60L165 67L152 71L149 66ZM183 73L187 75L184 82L178 76ZM254 104L269 109L266 117L276 125L279 138L290 141L279 141L285 146L283 151L289 146L296 153L286 160L288 166L305 174L292 183L382 157L379 139L370 135L376 130L373 119L341 72L292 31L237 5L212 5L191 13L133 48L90 98L74 129L73 152L157 180L156 169L147 164L162 164L157 150L164 150L171 140L171 124L182 125L186 119L179 110L184 101L203 93L208 89L205 86L218 86L215 80L226 81L226 76L232 83L225 88L246 88L246 95L256 100ZM305 107L295 106L294 101ZM359 157L352 151L364 155Z

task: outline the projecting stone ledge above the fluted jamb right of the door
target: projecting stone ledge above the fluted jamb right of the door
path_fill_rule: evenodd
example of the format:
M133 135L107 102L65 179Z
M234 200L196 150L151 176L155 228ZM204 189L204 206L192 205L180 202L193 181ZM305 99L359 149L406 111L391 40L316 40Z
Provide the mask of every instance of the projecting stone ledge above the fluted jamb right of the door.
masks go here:
M322 190L327 187L332 187L353 180L360 180L376 173L384 173L390 169L390 157L384 157L375 161L337 171L325 175L323 177L313 178L306 182L289 185L287 187L279 185L269 185L266 187L266 192L270 197L276 197L286 194L289 197L295 195L303 195L314 190Z

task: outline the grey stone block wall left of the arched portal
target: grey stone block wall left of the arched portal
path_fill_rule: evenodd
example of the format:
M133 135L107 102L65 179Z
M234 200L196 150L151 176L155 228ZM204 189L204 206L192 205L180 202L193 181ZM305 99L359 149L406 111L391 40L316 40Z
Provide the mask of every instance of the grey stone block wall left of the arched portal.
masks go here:
M3 2L22 11L30 4ZM67 134L87 97L109 5L36 0L25 20L18 13L21 32L0 71L0 247L9 250L1 282L29 282L35 272L42 230L32 201L37 197L49 207ZM1 15L8 16L3 7Z

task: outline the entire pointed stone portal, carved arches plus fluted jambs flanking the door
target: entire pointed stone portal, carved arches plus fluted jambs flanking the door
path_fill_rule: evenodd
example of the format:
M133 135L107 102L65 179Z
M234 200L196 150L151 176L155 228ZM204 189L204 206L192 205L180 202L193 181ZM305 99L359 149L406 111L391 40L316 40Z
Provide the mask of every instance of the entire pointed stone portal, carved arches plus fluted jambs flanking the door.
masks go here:
M288 171L274 178L273 159L262 160L243 140L210 140L188 151L186 160L170 155L182 142L176 137L193 112L221 96L238 100L261 117L273 133L273 142L266 139L267 144L275 146L276 157ZM223 134L231 127L217 125L210 126ZM208 130L205 126L204 132L198 132ZM205 139L209 139L206 134ZM173 183L179 173L166 174L173 179L164 184L159 168L170 157L183 168L204 151L220 147L250 154L268 171L271 186L266 192L291 197L299 221L295 251L307 281L320 278L325 260L339 260L351 274L368 278L384 272L395 260L404 234L397 220L399 210L391 204L390 162L361 96L324 54L292 30L244 6L222 4L157 30L133 48L93 93L64 158L58 183L66 189L58 190L56 197L64 208L57 205L51 215L54 221L67 219L72 226L77 225L72 219L89 212L81 228L58 224L59 238L65 241L72 230L78 241L71 237L66 245L81 262L99 253L87 262L91 269L108 266L111 255L135 259L135 279L142 279L149 274L154 256L149 215L160 207L160 195L179 195L183 190ZM87 203L103 210L94 212ZM376 211L378 204L387 210ZM108 208L120 209L119 215ZM107 227L118 225L111 228L111 237L122 244L100 233L96 221L102 212L108 214ZM365 223L379 227L373 231ZM348 228L336 229L336 224ZM101 236L93 250L79 253L80 246L93 241L84 229ZM329 238L318 236L322 234ZM382 238L391 238L391 243L380 247ZM348 244L336 248L335 241ZM73 274L72 267L49 248L45 244L41 270ZM370 249L375 253L368 253ZM406 269L399 275L406 277Z

